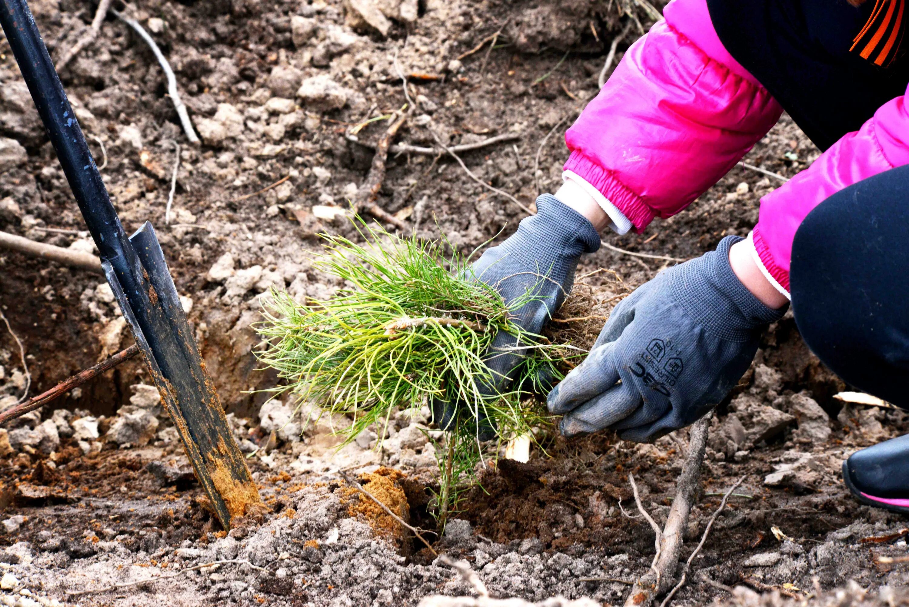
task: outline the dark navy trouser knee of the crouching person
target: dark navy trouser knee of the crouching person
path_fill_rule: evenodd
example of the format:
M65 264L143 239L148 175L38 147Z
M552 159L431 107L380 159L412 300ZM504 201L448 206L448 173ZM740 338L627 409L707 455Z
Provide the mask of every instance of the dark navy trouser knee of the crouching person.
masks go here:
M909 167L814 208L795 233L790 287L795 323L818 358L909 409Z

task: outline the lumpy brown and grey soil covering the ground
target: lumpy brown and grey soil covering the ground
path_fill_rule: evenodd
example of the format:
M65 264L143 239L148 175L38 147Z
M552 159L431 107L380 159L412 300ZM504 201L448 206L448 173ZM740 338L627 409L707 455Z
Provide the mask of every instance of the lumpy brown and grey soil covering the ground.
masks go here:
M268 397L255 390L273 386L275 377L255 362L259 297L272 286L301 299L325 298L338 287L312 268L307 251L319 247L321 230L358 238L346 201L364 182L369 145L385 123L363 126L356 142L347 133L403 106L395 61L405 74L423 75L410 78L417 107L397 141L432 146L430 127L449 144L517 133L514 145L463 158L475 175L531 205L538 191L559 185L564 130L596 94L609 43L624 26L619 10L637 9L594 0L384 3L399 4L416 5L415 18L395 13L386 35L351 22L350 9L335 0L133 5L135 17L155 30L185 104L207 134L201 147L185 144L154 56L113 18L62 71L96 157L97 142L104 143L102 174L125 228L155 224L237 438L258 449L247 461L269 512L222 530L160 412L143 447L105 439L135 386L151 383L135 359L26 422L35 427L56 409L75 411L67 423L98 418L101 437L85 442L87 453L61 434L51 453L30 447L0 459L0 568L15 576L0 582L0 602L412 605L432 594L468 593L411 531L338 473L361 475L365 488L409 524L434 529L435 450L415 426L425 416L399 416L376 449L374 436L335 451L338 440L325 420L307 426L303 440L266 428L260 408ZM82 0L31 6L54 57L84 35L95 12ZM643 12L635 15L650 23ZM487 44L456 59L496 32L492 51ZM619 46L620 56L626 46ZM333 79L343 103L336 89L334 96L295 98L300 83L314 76ZM268 109L288 98L289 107ZM218 128L225 137L218 139ZM0 200L15 203L0 204L0 229L90 248L5 39L0 137L25 148L0 173ZM180 165L167 225L174 142L181 145ZM792 177L817 156L784 116L745 160ZM655 221L646 234L604 238L631 251L693 258L728 234L745 236L760 197L779 184L735 167L684 213ZM447 157L391 155L378 203L420 238L444 236L464 250L504 238L524 217ZM338 217L328 219L316 206L334 207ZM616 296L668 263L602 248L582 260L578 275L588 275L588 288L578 288L582 305L574 309L605 315ZM7 251L0 268L0 307L25 347L31 394L131 343L100 277ZM596 273L601 268L618 278ZM563 315L574 316L571 310ZM569 330L589 344L602 323ZM0 369L0 399L15 402L25 369L5 332ZM903 517L860 505L838 474L849 453L904 432L907 421L895 410L842 410L833 396L844 388L804 346L791 315L766 333L752 369L717 410L692 540L722 493L743 475L744 483L674 604L757 604L743 591L730 599L724 585L798 597L815 592L815 583L824 591L849 581L875 592L905 587L906 565L876 561L904 552ZM804 399L816 402L823 417L806 418ZM791 420L768 421L768 410ZM678 434L636 445L610 433L566 441L544 431L538 439L545 450L534 448L527 463L499 460L483 470L445 536L425 537L435 551L469 561L494 596L622 602L626 582L646 571L654 551L627 474L634 473L645 507L664 521L682 463L685 433ZM225 562L166 577L212 561Z

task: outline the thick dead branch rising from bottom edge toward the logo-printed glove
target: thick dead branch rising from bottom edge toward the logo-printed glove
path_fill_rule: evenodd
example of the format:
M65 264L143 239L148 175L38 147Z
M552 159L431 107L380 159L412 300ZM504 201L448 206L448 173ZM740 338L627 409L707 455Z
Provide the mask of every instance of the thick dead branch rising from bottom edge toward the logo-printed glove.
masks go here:
M645 573L637 582L634 582L632 592L625 600L625 607L649 607L657 595L669 590L669 585L673 582L684 542L684 530L688 526L688 515L691 514L694 493L698 488L704 450L707 447L707 433L712 418L713 413L708 413L695 422L691 428L688 456L685 458L682 473L676 481L675 499L669 510L669 516L666 518L664 530L657 531L659 546L654 556L654 564L651 565L652 572ZM631 480L632 475L629 474L628 478ZM635 489L634 483L632 488ZM638 502L638 509L644 512L636 491L634 499ZM651 527L659 529L653 522L651 522Z

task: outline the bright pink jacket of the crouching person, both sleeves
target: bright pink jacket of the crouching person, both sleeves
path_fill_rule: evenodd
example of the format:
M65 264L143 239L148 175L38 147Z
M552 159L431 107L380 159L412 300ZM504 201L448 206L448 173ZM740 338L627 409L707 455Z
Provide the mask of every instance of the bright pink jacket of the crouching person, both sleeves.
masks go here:
M783 112L726 51L706 0L672 0L664 16L628 49L565 135L566 175L595 188L638 232L713 186ZM909 164L904 98L881 106L762 198L750 241L764 275L786 295L795 230L811 209L865 177Z

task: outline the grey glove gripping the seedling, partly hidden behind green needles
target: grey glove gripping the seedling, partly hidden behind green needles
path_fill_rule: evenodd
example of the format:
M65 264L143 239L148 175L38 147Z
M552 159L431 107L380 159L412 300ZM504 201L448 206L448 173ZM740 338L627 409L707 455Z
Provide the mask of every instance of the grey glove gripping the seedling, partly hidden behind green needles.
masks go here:
M544 194L536 200L536 215L522 220L501 245L488 248L471 266L471 272L474 279L495 288L506 305L530 292L533 297L511 314L516 325L539 335L571 291L581 254L598 248L600 235L590 221L558 198ZM518 338L512 334L499 332L495 336L485 357L493 377L478 386L482 394L500 394L511 385L521 360L521 351L514 349L517 345ZM436 424L447 430L453 421L452 404L435 400L432 410ZM483 417L482 411L479 416ZM494 438L495 430L483 419L478 422L480 439Z

